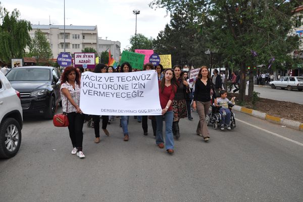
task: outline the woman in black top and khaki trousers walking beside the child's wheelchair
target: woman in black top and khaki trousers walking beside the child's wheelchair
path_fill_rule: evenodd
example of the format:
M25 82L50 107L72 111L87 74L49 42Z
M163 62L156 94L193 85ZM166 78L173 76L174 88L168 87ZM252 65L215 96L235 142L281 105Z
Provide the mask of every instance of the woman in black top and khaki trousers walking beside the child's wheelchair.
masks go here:
M195 82L192 108L194 110L197 109L199 114L199 123L196 133L197 135L203 136L204 141L208 141L210 139L210 133L206 123L206 116L211 106L211 89L214 92L213 96L215 98L215 104L217 104L217 97L209 70L206 66L202 66Z

